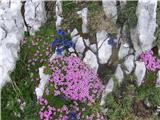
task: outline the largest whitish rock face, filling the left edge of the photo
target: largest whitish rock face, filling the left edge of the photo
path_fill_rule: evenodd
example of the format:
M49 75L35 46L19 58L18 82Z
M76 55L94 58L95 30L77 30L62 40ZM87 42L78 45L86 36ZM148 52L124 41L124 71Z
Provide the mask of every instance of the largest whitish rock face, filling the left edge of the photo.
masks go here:
M0 89L10 81L10 72L18 59L19 43L25 30L21 6L20 1L10 0L0 5Z

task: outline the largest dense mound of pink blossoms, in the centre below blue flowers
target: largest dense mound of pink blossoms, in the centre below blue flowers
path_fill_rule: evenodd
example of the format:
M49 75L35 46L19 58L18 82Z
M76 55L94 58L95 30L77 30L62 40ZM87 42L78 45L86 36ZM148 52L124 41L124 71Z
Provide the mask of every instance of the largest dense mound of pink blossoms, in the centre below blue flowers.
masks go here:
M59 57L50 62L55 96L92 103L99 98L104 86L96 72L76 56Z

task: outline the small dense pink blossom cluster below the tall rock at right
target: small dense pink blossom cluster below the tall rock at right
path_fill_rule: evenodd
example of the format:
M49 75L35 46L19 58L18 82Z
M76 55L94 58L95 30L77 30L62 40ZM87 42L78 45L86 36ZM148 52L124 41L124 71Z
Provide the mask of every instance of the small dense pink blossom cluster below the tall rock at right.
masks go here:
M160 60L153 56L152 50L143 52L140 55L140 60L145 63L148 70L155 71L160 69Z

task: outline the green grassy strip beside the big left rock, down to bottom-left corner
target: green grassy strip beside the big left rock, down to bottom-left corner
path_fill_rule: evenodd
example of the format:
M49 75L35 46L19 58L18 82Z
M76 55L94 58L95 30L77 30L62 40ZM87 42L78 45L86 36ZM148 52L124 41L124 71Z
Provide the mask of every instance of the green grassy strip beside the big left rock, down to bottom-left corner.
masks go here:
M2 120L35 120L37 118L39 107L34 95L34 89L37 85L31 79L32 74L34 77L38 76L36 69L42 66L42 63L38 61L32 70L28 70L28 60L33 57L36 51L36 48L32 46L32 41L40 37L44 41L51 42L53 40L51 35L54 34L54 31L53 21L48 21L35 36L26 37L27 43L21 47L20 58L16 63L15 70L11 73L12 82L2 89ZM42 45L42 42L39 42L39 45ZM40 52L44 53L45 51L42 49ZM18 99L22 101L21 103L25 103L24 111L20 109Z

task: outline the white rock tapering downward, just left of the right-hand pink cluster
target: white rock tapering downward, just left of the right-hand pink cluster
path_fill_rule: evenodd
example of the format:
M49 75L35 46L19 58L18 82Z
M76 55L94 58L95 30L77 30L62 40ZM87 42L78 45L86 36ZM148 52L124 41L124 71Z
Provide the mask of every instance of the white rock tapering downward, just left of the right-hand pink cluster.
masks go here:
M137 77L138 86L142 84L145 73L146 73L146 66L144 62L136 61L135 75Z

